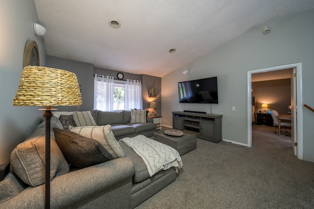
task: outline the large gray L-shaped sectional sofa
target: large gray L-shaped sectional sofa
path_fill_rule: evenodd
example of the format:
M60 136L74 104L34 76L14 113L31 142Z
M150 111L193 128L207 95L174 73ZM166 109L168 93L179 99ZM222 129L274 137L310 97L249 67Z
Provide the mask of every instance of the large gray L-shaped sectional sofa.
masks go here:
M97 115L95 112L93 113L97 123L104 123L103 117L110 115L113 123L111 124L112 132L116 138L138 134L151 136L156 129L156 124L151 122L143 124L143 126L130 124L128 122L130 111L117 115L111 112L99 113L99 111ZM121 118L120 114L122 114ZM51 131L51 208L135 208L176 180L177 173L173 167L150 177L142 158L122 141L117 143L121 146L125 157L107 160L84 168L69 165L55 140L55 134L65 133L65 135L73 136L77 133L62 130L63 126L57 119L58 117L55 117L51 122L51 126L54 128L52 129L54 132ZM109 121L108 118L106 120ZM132 131L130 127L133 128ZM86 140L84 142L88 146L95 142L88 138L78 137L78 139ZM42 176L39 175L44 173L45 168L44 143L45 128L41 124L33 135L19 144L12 152L11 165L14 163L15 166L11 166L10 173L0 182L0 208L39 209L44 207L45 184L41 179ZM102 152L99 145L92 144L92 146L97 148L94 150L95 152ZM85 145L82 147L86 148ZM83 153L79 153L76 155L83 160L88 157L93 160L94 154L84 156ZM19 164L20 167L16 164Z

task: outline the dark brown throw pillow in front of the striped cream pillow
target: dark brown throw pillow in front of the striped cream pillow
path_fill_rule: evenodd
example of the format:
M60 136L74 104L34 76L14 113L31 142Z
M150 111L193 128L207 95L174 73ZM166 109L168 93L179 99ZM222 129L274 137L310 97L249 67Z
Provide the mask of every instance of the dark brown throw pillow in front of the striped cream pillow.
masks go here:
M65 159L75 167L85 168L113 159L99 141L72 131L56 128L53 131Z

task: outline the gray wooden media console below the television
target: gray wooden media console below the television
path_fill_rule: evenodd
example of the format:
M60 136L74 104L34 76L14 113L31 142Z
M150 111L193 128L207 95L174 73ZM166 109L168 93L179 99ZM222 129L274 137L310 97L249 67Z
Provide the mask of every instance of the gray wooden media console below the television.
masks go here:
M222 140L222 115L194 112L172 112L172 127L196 133L198 138L218 143Z

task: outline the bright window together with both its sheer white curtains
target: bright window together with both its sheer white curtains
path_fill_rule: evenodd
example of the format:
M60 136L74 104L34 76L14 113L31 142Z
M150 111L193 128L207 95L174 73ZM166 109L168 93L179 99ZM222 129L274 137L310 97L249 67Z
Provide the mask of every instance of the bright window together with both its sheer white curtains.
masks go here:
M113 77L95 75L94 109L121 111L142 108L142 82L121 81Z

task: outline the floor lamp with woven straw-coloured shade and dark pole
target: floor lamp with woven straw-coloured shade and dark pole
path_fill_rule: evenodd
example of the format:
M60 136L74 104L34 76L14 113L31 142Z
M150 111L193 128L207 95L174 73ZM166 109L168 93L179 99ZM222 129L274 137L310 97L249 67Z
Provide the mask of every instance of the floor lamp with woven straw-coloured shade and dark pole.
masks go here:
M50 208L50 119L52 106L82 104L74 73L41 66L26 66L13 99L14 106L45 106L45 208Z

